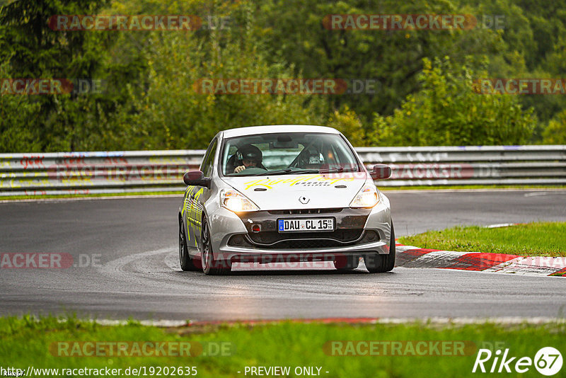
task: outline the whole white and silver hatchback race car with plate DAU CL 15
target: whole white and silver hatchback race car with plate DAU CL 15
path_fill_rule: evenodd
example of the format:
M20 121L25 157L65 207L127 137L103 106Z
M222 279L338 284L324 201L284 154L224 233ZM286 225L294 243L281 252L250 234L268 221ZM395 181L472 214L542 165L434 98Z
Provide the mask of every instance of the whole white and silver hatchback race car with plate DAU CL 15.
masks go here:
M200 171L185 173L179 208L183 270L228 273L232 263L333 261L371 273L395 265L388 198L350 142L331 127L277 125L221 131Z

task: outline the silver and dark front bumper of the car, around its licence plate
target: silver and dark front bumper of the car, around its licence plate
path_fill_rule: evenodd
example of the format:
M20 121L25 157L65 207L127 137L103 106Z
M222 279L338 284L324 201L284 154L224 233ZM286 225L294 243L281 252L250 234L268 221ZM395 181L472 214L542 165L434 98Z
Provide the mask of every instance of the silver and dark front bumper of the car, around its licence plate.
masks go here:
M302 213L293 213L296 210L260 211L238 216L224 207L219 207L212 217L209 217L215 258L232 262L270 263L291 260L336 260L340 256L389 253L391 212L385 196L371 209L335 210L324 209L321 212L302 210ZM285 214L285 211L291 214ZM318 217L333 217L335 233L298 232L279 234L279 237L277 235L277 219ZM252 231L252 226L255 224L261 228L259 233Z

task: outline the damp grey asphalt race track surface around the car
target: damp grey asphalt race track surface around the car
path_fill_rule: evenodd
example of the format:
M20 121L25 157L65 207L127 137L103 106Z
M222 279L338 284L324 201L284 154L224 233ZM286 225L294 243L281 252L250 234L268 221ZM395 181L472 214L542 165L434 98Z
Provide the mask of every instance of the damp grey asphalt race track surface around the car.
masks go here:
M456 224L566 220L566 190L386 195L397 236ZM209 321L566 314L561 277L406 268L381 275L362 269L236 269L225 277L182 272L179 203L180 197L0 203L0 253L68 253L76 265L1 268L0 315Z

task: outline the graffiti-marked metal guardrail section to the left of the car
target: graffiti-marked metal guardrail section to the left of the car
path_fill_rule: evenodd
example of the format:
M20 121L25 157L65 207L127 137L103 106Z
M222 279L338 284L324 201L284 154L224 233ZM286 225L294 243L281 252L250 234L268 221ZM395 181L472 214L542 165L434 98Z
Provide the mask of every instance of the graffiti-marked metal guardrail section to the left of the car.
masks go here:
M0 154L0 197L184 190L204 150Z

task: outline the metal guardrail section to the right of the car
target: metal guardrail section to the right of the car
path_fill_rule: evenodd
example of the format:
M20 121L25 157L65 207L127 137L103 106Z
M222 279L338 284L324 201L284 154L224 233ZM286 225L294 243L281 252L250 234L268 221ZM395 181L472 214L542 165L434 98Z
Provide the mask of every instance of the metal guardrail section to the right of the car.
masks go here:
M389 164L400 185L565 185L566 145L359 147L366 164Z

